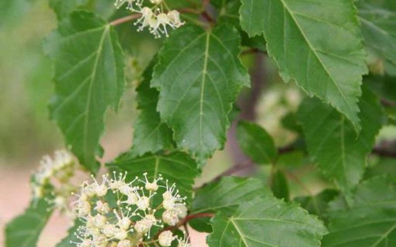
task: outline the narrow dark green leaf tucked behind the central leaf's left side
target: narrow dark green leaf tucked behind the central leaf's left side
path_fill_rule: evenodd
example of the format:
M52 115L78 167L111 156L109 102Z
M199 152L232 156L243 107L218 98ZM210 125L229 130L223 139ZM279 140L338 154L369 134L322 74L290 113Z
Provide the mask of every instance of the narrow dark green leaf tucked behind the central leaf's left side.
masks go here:
M156 111L158 91L150 88L153 64L143 73L143 82L136 89L140 114L134 124L133 146L130 155L141 156L173 148L172 130L161 122Z

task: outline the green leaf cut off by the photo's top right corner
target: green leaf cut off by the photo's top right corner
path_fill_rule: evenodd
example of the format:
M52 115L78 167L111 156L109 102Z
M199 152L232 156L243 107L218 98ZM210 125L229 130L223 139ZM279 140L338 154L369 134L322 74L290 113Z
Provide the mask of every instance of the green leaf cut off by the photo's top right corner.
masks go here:
M396 65L396 12L360 0L359 20L365 44Z

